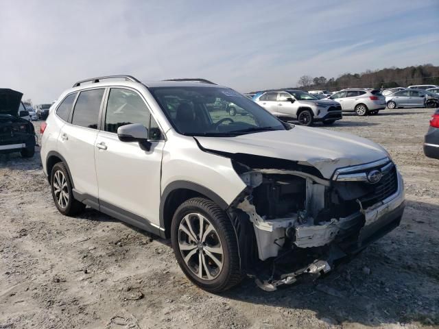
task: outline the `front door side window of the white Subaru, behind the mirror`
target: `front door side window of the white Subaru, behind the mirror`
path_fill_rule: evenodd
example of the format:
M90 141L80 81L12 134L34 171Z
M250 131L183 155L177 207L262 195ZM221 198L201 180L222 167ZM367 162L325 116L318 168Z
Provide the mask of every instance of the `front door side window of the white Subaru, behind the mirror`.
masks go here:
M117 133L117 128L132 123L145 126L150 139L161 139L161 130L140 95L129 89L111 88L107 101L105 131Z

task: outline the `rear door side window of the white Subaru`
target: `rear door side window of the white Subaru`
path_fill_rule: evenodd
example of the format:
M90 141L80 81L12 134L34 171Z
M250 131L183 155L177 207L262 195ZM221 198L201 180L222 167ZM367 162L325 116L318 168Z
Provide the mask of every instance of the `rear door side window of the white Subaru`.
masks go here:
M71 123L81 127L97 129L99 109L104 89L84 90L80 93L73 110Z

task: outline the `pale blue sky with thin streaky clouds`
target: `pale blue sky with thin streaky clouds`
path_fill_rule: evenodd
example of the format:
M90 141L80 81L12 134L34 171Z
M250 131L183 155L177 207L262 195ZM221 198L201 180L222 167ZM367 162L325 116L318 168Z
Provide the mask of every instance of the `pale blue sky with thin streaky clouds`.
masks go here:
M439 0L0 3L0 88L34 104L102 75L202 77L246 93L439 65Z

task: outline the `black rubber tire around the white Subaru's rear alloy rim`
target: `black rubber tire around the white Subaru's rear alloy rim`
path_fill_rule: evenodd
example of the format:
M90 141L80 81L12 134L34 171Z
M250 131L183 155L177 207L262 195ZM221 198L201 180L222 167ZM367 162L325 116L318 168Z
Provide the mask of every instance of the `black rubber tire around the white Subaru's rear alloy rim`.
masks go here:
M56 196L55 175L58 171L62 173L62 175L65 178L66 186L64 187L61 186L62 187L61 190L62 192L64 192L64 195L65 194L68 195L68 200L65 203L65 206L62 206L62 202L59 202L58 197ZM71 178L69 176L69 171L67 170L67 167L64 164L64 162L57 162L54 165L54 168L52 168L52 172L50 175L50 186L51 186L52 197L54 198L55 206L56 208L58 208L58 211L62 213L62 215L74 216L74 215L78 215L80 212L82 212L82 210L84 210L85 204L82 204L82 202L79 202L73 197ZM58 196L59 195L60 194L58 194Z

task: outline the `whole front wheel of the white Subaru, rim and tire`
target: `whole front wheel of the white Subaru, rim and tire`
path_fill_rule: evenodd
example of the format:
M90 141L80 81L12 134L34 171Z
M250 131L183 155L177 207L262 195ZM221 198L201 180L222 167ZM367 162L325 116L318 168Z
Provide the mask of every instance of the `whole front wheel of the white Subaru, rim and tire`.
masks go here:
M241 282L235 230L215 202L183 202L172 219L171 242L178 265L202 289L217 293Z

